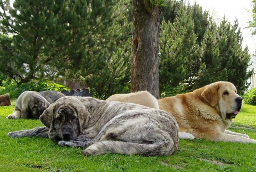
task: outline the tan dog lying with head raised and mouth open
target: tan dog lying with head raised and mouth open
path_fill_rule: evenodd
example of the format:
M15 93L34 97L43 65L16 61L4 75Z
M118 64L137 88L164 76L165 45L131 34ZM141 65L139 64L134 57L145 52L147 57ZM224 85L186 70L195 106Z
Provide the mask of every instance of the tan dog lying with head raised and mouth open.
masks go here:
M136 102L142 105L148 104L148 101L155 102L151 100L152 95L145 97L145 91L116 95L107 100ZM144 96L143 99L140 99L141 95ZM177 94L159 99L157 102L160 110L165 110L175 117L180 133L185 133L185 138L186 133L190 133L195 138L205 138L211 141L256 144L256 140L250 139L246 134L226 130L242 107L242 98L230 82L215 82L191 93Z

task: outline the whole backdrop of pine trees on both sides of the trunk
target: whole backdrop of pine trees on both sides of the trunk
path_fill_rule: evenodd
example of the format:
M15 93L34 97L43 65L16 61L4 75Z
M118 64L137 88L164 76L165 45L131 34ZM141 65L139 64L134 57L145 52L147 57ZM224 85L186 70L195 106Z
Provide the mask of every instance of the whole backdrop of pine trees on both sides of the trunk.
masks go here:
M174 95L216 81L247 89L250 54L238 22L216 23L197 3L162 6L160 92ZM256 2L255 0L253 2ZM130 92L132 1L9 0L0 2L0 80L86 82L95 97ZM253 9L255 6L253 7ZM14 84L14 83L13 83Z

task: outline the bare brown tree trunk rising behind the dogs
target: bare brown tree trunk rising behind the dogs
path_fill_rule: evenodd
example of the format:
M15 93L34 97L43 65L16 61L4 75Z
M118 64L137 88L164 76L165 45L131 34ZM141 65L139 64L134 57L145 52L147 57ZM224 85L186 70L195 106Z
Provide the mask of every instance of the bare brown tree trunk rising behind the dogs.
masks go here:
M134 0L133 15L131 92L148 90L159 99L160 8L148 12L143 0Z

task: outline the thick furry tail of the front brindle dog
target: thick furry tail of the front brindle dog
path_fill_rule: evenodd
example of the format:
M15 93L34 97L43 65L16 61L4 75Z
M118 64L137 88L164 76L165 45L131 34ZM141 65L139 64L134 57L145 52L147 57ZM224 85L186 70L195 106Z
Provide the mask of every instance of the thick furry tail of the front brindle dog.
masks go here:
M122 141L100 141L84 150L85 155L100 155L105 153L119 153L127 155L171 155L177 151L178 144L172 140L160 141L153 144L138 144Z

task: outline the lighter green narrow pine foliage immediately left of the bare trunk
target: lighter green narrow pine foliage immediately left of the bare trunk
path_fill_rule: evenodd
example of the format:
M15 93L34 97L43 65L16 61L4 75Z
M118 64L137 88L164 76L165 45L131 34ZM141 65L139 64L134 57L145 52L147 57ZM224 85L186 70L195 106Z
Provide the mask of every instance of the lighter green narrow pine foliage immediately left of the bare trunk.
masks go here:
M108 32L111 41L105 51L105 66L100 73L84 77L90 86L93 96L107 99L116 93L129 93L131 80L131 35L132 3L129 0L119 1L114 6L114 25Z

